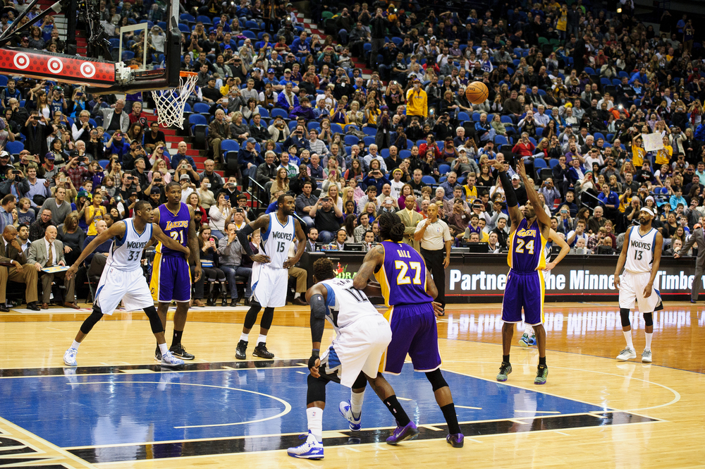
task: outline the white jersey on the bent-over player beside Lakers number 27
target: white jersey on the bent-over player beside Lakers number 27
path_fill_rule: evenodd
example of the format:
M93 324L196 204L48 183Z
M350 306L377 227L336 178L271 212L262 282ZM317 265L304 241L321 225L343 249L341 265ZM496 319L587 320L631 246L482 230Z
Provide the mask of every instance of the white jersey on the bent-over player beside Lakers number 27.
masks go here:
M328 291L326 319L338 329L349 326L361 317L379 315L376 307L369 303L364 291L353 286L350 279L329 279L321 282Z

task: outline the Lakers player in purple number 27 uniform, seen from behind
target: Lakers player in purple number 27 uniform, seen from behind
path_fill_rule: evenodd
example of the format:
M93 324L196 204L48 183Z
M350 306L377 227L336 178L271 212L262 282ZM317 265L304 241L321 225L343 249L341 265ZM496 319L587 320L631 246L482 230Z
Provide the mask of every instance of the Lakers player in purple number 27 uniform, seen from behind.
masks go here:
M362 267L353 279L353 286L363 290L367 282L376 276L381 296L389 307L384 317L392 329L392 341L382 355L379 371L400 374L408 353L414 371L426 373L431 382L436 402L448 424L446 441L454 448L460 448L463 436L458 416L455 415L453 396L440 370L442 361L436 314L441 312L441 305L434 303L434 298L438 296L436 285L424 258L412 246L402 243L405 225L399 216L384 212L376 221L379 222L379 238L383 241L364 256ZM381 374L378 374L379 377ZM378 386L380 382L381 379L378 379ZM375 391L379 395L379 391ZM342 408L341 404L341 413ZM396 434L403 437L413 428L413 422L398 421L393 437Z

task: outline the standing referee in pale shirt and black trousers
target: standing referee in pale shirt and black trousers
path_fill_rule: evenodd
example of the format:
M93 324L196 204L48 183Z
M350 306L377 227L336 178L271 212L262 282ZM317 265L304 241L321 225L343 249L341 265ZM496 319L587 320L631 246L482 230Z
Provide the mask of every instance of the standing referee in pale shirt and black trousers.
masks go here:
M431 204L427 209L428 218L419 221L414 233L414 239L421 241L421 255L424 256L426 265L434 276L436 289L439 296L436 301L441 303L441 307L446 308L446 267L450 265L450 244L453 236L450 236L448 224L439 220L438 205ZM446 250L446 257L443 257L443 248ZM446 313L443 312L443 315Z

